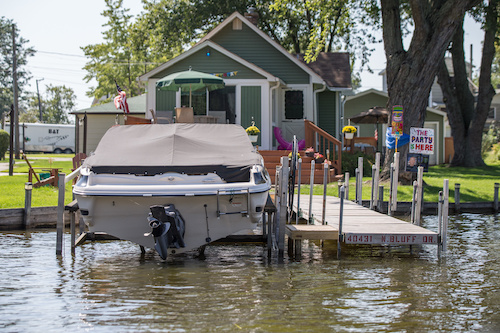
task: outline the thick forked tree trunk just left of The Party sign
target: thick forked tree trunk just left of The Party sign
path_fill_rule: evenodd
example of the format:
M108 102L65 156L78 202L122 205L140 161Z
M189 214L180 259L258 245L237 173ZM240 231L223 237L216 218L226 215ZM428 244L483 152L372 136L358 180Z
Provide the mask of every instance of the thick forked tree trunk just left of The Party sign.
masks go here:
M445 51L460 26L465 12L479 0L410 0L409 9L414 31L408 50L403 47L401 30L401 3L399 0L381 0L384 49L387 59L388 109L394 105L404 108L403 132L410 127L422 127L429 93ZM404 158L408 146L400 151L400 180L411 181L404 172ZM387 150L383 178L389 175L392 150Z

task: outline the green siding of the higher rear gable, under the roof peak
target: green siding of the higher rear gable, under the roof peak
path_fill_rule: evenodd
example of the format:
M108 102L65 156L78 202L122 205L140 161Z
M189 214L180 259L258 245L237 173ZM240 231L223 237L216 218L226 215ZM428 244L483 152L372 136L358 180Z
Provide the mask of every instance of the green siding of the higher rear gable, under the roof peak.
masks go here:
M212 40L288 84L309 84L309 74L245 24L242 30L228 24Z

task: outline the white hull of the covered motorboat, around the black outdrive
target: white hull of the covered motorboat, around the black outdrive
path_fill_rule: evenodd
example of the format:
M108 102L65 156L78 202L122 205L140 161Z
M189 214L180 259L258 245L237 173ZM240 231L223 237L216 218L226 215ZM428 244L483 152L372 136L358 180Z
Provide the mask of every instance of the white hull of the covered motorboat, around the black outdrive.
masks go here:
M105 232L154 248L147 217L150 206L175 205L185 221L184 248L169 254L197 249L202 245L246 229L253 229L262 217L268 193L201 196L86 196L76 195L84 221L92 232ZM217 209L217 201L219 201ZM206 207L205 207L206 206ZM241 213L245 211L247 213ZM219 214L218 214L219 212ZM147 236L145 236L145 234Z

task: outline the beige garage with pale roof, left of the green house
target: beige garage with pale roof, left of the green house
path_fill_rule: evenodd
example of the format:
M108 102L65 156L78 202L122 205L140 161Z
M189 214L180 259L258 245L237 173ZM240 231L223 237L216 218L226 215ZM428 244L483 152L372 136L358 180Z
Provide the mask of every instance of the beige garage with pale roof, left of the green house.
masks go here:
M146 94L127 98L132 116L144 117ZM106 131L116 125L124 124L124 113L117 110L113 101L71 112L75 115L76 152L90 154L95 150Z

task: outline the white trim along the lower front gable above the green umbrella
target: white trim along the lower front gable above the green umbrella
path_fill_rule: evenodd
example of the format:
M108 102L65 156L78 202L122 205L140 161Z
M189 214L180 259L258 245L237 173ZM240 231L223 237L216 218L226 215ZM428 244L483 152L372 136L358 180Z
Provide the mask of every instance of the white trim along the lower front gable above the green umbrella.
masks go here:
M190 57L191 55L193 55L194 53L200 51L201 49L203 49L204 47L210 47L220 53L222 53L223 55L227 56L228 58L231 58L232 60L242 64L243 66L247 67L248 69L256 72L257 74L259 75L262 75L263 77L265 77L267 80L271 80L271 81L275 81L277 78L272 75L271 73L263 70L262 68L256 66L255 64L239 57L238 55L232 53L231 51L228 51L227 49L223 48L222 46L220 46L219 44L217 43L214 43L212 42L211 40L207 40L203 43L198 43L196 44L195 46L193 46L192 48L190 48L189 50L187 50L186 52L178 55L177 57L167 61L166 63L156 67L155 69L147 72L146 74L143 74L141 76L139 76L138 80L139 81L146 81L146 80L149 80L152 76L164 71L165 69L169 68L170 66L172 65L175 65L176 63L178 63L179 61L182 61L188 57ZM188 70L186 68L186 70Z

